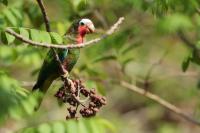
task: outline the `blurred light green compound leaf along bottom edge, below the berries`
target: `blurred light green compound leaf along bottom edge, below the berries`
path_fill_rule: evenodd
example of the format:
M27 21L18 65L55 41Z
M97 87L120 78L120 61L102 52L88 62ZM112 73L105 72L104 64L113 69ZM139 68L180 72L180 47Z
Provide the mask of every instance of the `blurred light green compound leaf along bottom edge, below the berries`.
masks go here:
M100 118L79 119L68 121L53 121L19 130L17 133L109 133L114 132L114 126L109 121Z

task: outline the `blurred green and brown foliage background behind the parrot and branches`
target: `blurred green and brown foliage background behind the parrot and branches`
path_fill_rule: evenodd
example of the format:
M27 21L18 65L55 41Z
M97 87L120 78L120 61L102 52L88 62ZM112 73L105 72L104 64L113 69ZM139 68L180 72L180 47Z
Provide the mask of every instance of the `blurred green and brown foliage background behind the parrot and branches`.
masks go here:
M4 28L45 30L35 0L0 0L1 38ZM200 128L159 104L111 80L126 80L159 95L200 120L200 2L198 0L44 0L52 31L63 35L76 18L90 18L98 37L119 17L118 31L98 45L81 49L71 76L82 79L107 98L96 118L65 121L54 82L38 112L30 96L47 52L45 48L0 43L0 133L198 133ZM177 35L183 32L196 49ZM37 36L36 36L37 38ZM185 71L185 72L183 72Z

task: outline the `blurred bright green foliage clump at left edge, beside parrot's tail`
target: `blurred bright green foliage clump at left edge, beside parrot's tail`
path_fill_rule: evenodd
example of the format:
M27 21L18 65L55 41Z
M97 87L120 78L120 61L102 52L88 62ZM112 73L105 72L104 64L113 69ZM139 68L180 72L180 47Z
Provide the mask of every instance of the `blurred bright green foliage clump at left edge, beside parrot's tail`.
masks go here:
M17 91L16 91L17 90ZM0 122L5 118L12 117L19 119L23 114L19 107L21 101L26 99L28 93L21 88L19 83L8 77L6 74L0 74ZM5 121L4 121L5 122Z

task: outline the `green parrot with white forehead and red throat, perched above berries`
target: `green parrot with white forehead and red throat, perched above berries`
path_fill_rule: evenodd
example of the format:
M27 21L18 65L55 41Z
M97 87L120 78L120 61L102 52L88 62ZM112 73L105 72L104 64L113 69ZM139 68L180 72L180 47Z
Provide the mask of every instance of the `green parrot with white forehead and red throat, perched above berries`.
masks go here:
M83 43L84 37L86 34L93 33L95 30L94 24L90 19L79 19L75 20L72 25L69 27L65 35L73 38L71 40L75 41L77 45ZM60 58L65 69L68 73L73 69L79 58L79 49L55 49ZM37 90L42 94L41 98L38 99L38 107L42 102L43 96L52 84L52 82L60 76L59 64L53 56L52 49L47 53L45 60L43 62L42 68L40 69L39 76L36 84L34 85L32 91L36 92Z

